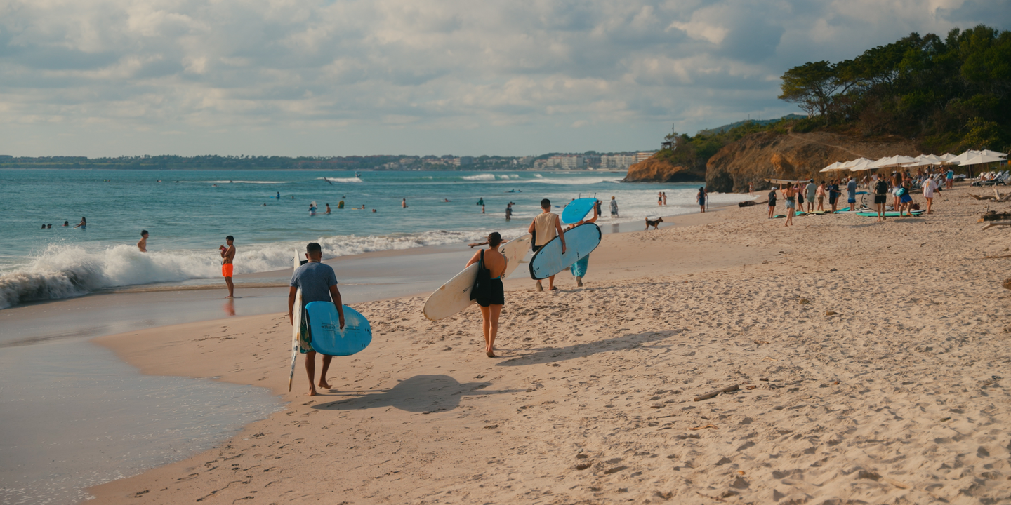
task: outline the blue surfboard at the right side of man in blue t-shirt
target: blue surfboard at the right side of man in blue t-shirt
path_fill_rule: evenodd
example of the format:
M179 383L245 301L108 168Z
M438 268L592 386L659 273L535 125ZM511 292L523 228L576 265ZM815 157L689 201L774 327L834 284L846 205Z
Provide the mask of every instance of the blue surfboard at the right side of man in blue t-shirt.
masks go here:
M351 356L372 341L372 325L357 310L344 306L344 329L334 302L309 302L305 318L312 337L312 348L327 356Z

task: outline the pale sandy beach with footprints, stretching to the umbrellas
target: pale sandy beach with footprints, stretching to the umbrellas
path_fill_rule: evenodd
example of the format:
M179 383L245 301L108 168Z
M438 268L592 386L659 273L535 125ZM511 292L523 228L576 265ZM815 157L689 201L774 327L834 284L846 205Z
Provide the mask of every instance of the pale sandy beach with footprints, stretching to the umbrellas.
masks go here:
M99 338L145 374L289 403L92 503L1011 500L1011 259L983 259L1007 231L970 192L884 223L756 205L605 235L582 289L505 282L499 359L476 307L352 303L373 342L311 398L301 363L287 392L283 307Z

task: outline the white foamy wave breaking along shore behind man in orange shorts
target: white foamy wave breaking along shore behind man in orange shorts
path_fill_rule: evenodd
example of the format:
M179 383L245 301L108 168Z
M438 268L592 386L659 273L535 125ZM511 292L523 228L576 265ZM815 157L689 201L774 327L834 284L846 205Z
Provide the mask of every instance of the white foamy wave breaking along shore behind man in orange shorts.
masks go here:
M519 236L522 229L503 232ZM482 239L486 230L432 230L391 235L320 237L324 257L360 255L375 250L407 249L426 245ZM304 242L273 242L244 246L235 261L235 273L251 274L291 267L291 255ZM86 295L117 286L132 286L220 276L216 251L166 250L140 252L131 245L88 249L80 245L51 244L26 266L0 274L0 309L32 300Z

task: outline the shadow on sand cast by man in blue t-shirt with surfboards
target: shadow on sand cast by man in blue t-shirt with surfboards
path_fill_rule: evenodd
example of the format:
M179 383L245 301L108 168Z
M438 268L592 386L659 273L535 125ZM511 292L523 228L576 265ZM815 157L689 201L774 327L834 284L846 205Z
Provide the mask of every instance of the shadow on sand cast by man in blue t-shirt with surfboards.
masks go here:
M408 412L437 412L453 410L460 405L464 395L501 395L523 390L484 390L489 382L460 384L450 376L415 376L400 381L385 391L357 394L352 398L313 405L320 410L356 410L367 408L396 407Z

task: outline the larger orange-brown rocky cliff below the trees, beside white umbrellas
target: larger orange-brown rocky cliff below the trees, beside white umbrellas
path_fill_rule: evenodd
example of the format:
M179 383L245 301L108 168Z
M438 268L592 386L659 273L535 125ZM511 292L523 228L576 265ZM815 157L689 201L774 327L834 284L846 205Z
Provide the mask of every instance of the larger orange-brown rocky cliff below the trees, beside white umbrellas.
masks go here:
M751 183L760 190L769 187L764 179L827 179L832 174L818 172L835 162L860 157L870 160L894 155L915 157L920 153L916 143L908 139L884 141L822 131L762 131L728 143L713 155L706 164L706 187L709 191L740 193L747 191Z

